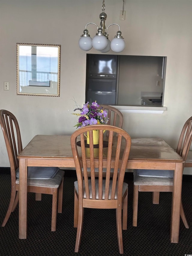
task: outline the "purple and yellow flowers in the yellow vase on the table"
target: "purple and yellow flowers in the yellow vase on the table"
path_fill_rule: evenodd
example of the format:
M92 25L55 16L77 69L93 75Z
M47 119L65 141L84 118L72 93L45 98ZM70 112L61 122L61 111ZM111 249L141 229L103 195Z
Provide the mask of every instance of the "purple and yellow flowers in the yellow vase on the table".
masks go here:
M96 125L96 124L107 124L108 118L107 111L103 110L103 107L100 107L97 102L89 102L83 104L82 108L76 108L73 111L79 110L81 113L73 113L73 115L79 116L78 123L74 125L76 128L81 128L86 125Z

